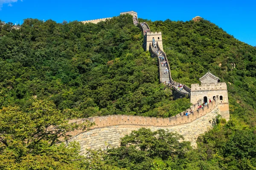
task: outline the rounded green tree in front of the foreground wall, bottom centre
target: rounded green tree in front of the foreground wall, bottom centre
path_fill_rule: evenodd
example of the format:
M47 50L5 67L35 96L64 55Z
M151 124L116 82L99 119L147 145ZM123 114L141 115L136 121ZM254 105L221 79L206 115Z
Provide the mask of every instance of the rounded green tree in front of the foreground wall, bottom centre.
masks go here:
M152 163L154 158L179 159L191 150L190 142L179 142L180 139L183 137L168 130L152 132L141 128L123 137L121 147L108 150L104 160L129 170L154 170L163 166L161 161Z

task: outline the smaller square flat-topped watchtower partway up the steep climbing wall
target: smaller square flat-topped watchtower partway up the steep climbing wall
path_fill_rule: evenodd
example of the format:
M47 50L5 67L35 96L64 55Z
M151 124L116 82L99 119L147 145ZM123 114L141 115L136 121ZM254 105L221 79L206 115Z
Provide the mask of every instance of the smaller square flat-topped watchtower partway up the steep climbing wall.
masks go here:
M161 50L163 50L163 40L162 40L162 33L161 32L148 32L146 35L145 35L145 39L144 39L144 49L146 51L149 50L149 44L152 43L152 40L155 40L155 43L158 42L158 45L160 47Z

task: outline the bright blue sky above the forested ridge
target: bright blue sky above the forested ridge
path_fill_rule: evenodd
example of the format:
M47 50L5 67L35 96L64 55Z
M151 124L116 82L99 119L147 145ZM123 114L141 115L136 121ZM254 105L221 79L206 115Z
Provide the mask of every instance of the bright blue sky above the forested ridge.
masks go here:
M201 16L228 34L256 46L256 0L0 0L0 19L22 23L26 18L61 23L118 16L136 11L148 20L191 20Z

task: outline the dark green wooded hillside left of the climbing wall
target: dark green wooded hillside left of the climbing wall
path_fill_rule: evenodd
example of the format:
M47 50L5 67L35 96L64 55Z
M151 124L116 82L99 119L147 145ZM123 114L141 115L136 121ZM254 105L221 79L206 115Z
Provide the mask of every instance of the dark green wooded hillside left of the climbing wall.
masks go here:
M168 117L189 107L158 84L157 61L141 48L143 36L130 16L98 25L26 19L20 31L1 32L0 95L8 97L0 108L29 105L32 96L82 118Z

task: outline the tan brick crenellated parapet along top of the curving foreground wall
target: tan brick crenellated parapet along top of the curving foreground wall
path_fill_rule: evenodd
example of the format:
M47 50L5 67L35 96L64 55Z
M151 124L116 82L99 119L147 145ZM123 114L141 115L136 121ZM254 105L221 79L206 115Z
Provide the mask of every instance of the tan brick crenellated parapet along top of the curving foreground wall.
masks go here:
M196 119L210 113L218 106L218 97L213 100L209 105L204 108L197 109L197 105L201 104L201 100L198 103L192 105L186 111L193 111L188 116L183 116L183 112L175 116L168 118L157 118L157 117L147 117L147 116L133 116L133 115L108 115L108 116L95 116L84 119L70 119L69 123L82 124L83 122L89 120L90 122L95 122L95 126L91 127L90 130L119 126L119 125L134 125L134 126L154 126L154 127L171 127L177 125L183 125L195 121ZM76 136L77 134L83 133L84 130L74 130L70 135Z

